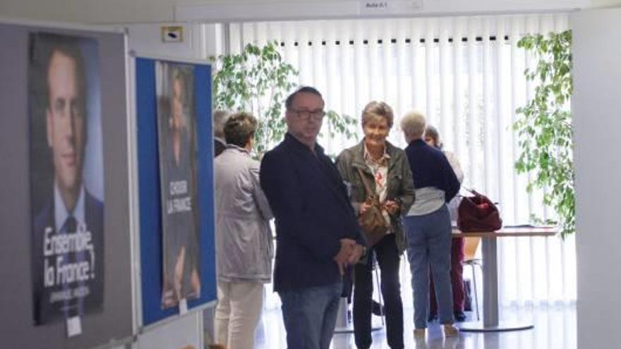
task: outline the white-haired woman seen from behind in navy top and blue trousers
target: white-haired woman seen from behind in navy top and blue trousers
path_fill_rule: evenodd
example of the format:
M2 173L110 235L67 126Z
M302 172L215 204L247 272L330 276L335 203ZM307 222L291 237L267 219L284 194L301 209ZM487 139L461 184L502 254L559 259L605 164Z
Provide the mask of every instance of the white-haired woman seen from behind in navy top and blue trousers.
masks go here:
M440 324L445 336L457 336L453 326L451 267L451 219L447 202L459 191L459 180L442 151L423 140L425 117L406 114L401 121L408 146L406 156L414 178L416 200L406 213L407 253L414 291L414 338L424 338L427 328L429 266L435 281Z

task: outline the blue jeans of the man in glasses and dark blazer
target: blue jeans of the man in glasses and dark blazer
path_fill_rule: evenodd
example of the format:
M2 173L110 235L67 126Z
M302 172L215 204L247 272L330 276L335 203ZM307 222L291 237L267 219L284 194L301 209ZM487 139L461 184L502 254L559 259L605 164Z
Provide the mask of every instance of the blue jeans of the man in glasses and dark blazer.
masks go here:
M328 349L343 283L279 292L289 349Z

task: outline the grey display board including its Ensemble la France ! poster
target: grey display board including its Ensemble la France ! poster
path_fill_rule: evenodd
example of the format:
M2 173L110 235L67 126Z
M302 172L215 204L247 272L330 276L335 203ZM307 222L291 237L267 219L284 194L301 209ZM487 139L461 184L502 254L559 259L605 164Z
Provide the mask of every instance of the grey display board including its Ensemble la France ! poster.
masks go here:
M0 23L0 47L3 347L131 341L126 37Z

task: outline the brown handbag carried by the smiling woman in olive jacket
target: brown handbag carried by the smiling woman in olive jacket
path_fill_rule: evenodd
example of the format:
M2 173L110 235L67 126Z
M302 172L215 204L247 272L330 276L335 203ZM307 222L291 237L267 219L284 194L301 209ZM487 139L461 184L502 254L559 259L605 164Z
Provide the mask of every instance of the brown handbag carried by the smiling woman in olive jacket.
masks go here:
M358 169L358 173L362 178L367 193L368 199L366 203L370 204L370 207L368 207L363 214L358 215L358 224L360 224L365 235L367 247L373 247L373 245L382 240L388 232L388 223L382 214L380 198L373 192L373 189L370 188L370 184L366 180L361 169Z

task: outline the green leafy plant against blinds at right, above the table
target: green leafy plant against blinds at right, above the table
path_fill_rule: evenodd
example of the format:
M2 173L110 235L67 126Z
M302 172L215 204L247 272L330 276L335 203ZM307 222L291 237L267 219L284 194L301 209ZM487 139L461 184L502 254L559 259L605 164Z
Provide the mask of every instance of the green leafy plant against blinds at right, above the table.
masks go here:
M533 99L517 109L513 127L518 134L518 173L531 173L527 190L543 189L543 203L552 207L562 238L576 231L572 96L572 32L526 35L518 42L536 60L526 68L526 80L536 83ZM536 221L542 222L536 218Z

